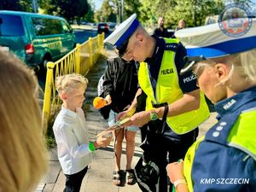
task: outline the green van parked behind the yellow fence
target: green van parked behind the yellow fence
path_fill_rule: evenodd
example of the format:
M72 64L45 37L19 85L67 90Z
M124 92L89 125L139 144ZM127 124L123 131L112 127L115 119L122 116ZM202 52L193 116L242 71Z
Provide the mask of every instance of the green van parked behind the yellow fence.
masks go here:
M0 49L12 51L26 65L45 67L75 47L67 20L51 15L0 11Z

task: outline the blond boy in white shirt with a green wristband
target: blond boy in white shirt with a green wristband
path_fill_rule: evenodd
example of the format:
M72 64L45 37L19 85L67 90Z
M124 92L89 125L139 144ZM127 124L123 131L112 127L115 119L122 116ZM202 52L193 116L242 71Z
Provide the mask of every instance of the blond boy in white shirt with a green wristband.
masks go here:
M53 130L58 147L58 159L66 178L64 192L79 192L91 160L91 152L107 147L111 138L98 137L90 143L82 105L88 80L79 74L67 74L56 81L56 90L63 102Z

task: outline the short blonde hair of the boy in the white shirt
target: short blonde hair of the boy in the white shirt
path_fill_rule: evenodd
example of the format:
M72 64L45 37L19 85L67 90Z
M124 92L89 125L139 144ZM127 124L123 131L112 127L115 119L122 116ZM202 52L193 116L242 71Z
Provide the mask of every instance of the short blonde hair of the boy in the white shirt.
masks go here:
M57 78L56 90L60 94L62 91L66 92L69 89L79 89L81 86L87 87L88 79L80 74L67 74Z

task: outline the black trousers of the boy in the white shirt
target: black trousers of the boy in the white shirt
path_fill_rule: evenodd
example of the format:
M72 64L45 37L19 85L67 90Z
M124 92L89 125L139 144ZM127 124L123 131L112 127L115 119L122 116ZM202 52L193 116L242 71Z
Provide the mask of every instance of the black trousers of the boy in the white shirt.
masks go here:
M77 172L73 175L66 175L66 187L63 192L79 192L81 184L86 174L88 167L86 166L81 172Z

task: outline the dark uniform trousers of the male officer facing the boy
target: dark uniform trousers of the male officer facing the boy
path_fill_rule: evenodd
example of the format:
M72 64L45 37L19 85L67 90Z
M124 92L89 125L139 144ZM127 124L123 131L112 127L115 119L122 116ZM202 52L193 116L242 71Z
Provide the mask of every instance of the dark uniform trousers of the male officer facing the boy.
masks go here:
M152 192L167 192L167 164L183 159L187 150L198 136L198 128L189 133L177 135L168 125L166 125L164 133L156 134L156 130L161 127L162 122L160 120L150 121L146 132L146 140L141 145L141 148L143 148L143 160L145 162L153 161L159 167L157 179L150 176L151 173L148 172L147 178L149 181L147 183L149 183L149 188L151 188ZM152 183L155 183L155 185L153 186ZM142 191L148 191L139 182L138 184ZM170 189L172 191L172 184Z

